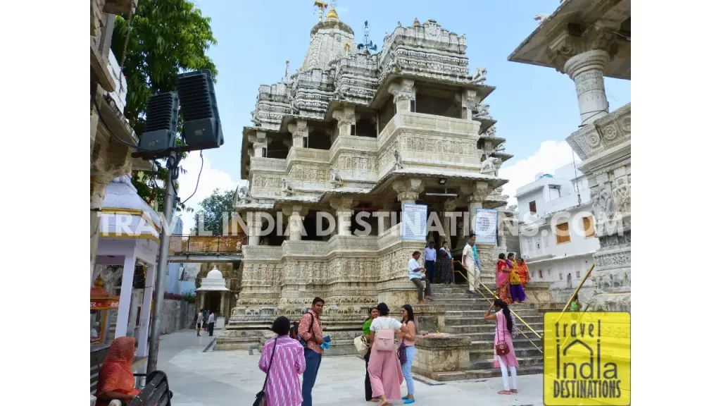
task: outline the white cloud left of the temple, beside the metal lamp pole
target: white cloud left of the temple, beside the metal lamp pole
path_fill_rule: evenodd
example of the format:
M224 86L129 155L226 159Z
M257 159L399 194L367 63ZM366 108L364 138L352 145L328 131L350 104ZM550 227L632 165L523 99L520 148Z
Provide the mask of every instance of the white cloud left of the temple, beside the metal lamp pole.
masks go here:
M218 188L221 191L228 189L235 189L238 182L231 177L228 173L222 170L213 169L210 160L207 156L203 156L203 172L200 173L200 181L198 181L198 172L200 172L200 152L193 151L188 153L185 159L180 161L180 166L187 172L180 173L178 183L178 194L180 194L180 201L185 199L193 193L195 189L195 183L198 182L198 191L195 192L185 205L187 207L193 207L195 211L199 210L198 204L210 196L213 190ZM182 230L184 234L190 233L190 228L194 225L193 217L195 212L182 212L180 218L182 218Z

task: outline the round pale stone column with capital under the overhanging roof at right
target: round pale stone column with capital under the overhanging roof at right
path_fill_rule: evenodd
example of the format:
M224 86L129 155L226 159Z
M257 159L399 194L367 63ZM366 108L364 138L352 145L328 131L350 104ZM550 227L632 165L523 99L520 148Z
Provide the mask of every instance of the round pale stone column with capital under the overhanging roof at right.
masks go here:
M576 84L581 125L590 124L609 113L603 70L610 59L608 52L596 49L572 56L564 65L566 73Z

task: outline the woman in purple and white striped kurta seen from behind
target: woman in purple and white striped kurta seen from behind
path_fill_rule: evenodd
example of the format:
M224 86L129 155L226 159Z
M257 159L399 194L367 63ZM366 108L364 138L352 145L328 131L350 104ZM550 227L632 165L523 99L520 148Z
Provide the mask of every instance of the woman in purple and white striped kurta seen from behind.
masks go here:
M306 370L306 358L301 343L288 336L290 329L291 322L286 317L275 319L273 332L278 334L278 347L275 348L273 363L271 364L270 357L276 345L275 339L265 342L260 355L258 368L268 374L265 386L267 406L298 406L303 402L298 375Z

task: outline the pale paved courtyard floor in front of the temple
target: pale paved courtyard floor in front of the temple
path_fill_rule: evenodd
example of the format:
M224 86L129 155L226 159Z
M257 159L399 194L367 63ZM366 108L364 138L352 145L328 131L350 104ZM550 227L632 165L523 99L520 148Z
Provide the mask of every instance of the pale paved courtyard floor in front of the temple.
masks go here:
M216 335L220 335L220 331ZM252 405L265 374L258 369L260 354L248 351L213 351L213 337L195 330L161 337L158 368L168 374L173 406ZM323 358L313 389L314 405L377 405L366 402L363 381L366 364L361 358ZM302 378L301 378L302 379ZM543 405L543 376L518 376L518 394L497 394L500 378L426 384L415 381L415 405ZM402 393L406 393L405 383ZM393 402L402 405L402 401Z

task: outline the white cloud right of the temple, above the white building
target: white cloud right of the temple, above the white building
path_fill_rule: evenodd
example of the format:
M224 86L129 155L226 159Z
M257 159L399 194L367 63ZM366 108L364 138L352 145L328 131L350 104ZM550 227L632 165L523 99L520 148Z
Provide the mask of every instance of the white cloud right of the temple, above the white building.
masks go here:
M565 141L544 141L541 147L524 160L515 161L508 167L502 166L498 170L500 178L508 179L503 185L503 194L508 194L508 205L516 204L516 189L534 181L536 173L554 173L558 168L572 163L572 159L578 161L578 155L572 152L570 145Z

